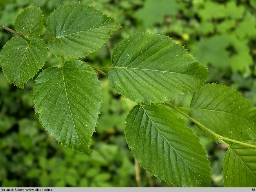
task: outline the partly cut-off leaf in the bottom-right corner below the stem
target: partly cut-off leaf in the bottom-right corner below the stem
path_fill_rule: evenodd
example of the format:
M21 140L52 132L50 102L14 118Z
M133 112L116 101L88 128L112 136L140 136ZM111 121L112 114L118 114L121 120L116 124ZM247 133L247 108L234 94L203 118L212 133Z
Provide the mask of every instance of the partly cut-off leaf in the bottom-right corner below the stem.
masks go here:
M255 187L256 143L246 141L255 147L233 144L228 147L223 161L225 187Z

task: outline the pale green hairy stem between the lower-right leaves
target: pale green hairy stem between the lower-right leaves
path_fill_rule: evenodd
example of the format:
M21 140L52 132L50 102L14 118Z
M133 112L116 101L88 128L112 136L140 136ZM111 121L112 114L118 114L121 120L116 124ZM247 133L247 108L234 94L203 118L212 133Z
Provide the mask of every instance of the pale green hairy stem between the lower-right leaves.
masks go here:
M226 138L226 137L223 137L221 135L218 135L216 133L214 133L213 131L211 131L210 129L208 129L207 127L205 127L204 125L202 125L201 123L199 123L198 121L195 121L195 119L191 118L189 115L187 115L186 113L182 112L181 110L179 110L176 106L174 105L171 105L169 103L165 103L165 105L173 108L174 110L178 111L180 114L184 115L185 117L187 117L189 120L191 120L193 123L195 123L196 125L202 127L203 129L205 129L206 131L210 132L211 134L213 134L218 140L220 143L223 143L224 145L226 146L229 146L229 144L227 144L226 142L224 142L223 140L226 140L226 141L231 141L233 143L238 143L238 144L241 144L241 145L245 145L245 146L248 146L248 147L253 147L253 148L256 148L256 146L254 145L251 145L251 144L247 144L247 143L244 143L244 142L240 142L240 141L236 141L236 140L233 140L233 139L229 139L229 138ZM187 108L189 109L189 108Z

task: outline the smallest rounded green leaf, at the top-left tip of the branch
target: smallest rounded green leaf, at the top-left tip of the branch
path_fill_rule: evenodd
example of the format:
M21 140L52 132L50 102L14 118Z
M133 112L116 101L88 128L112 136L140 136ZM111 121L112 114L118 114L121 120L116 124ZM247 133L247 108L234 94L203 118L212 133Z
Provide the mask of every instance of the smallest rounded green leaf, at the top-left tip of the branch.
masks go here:
M43 32L43 14L38 7L28 7L16 17L14 26L28 39L39 37Z

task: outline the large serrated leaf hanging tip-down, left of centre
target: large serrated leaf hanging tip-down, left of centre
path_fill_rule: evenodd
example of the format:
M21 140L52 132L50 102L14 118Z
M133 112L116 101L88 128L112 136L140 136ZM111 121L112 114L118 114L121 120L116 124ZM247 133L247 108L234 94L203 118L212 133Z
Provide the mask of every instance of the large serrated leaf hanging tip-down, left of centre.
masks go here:
M36 78L33 101L39 120L58 142L80 152L90 152L100 110L100 82L82 61L49 67Z

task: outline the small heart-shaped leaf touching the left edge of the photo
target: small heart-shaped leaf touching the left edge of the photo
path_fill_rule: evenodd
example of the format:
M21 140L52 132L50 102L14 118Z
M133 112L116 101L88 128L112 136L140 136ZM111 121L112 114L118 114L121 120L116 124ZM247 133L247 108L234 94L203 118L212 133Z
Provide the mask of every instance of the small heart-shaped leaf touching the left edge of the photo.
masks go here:
M6 77L23 88L24 83L43 67L47 60L47 48L42 39L32 39L27 43L21 37L14 37L6 42L0 59Z

